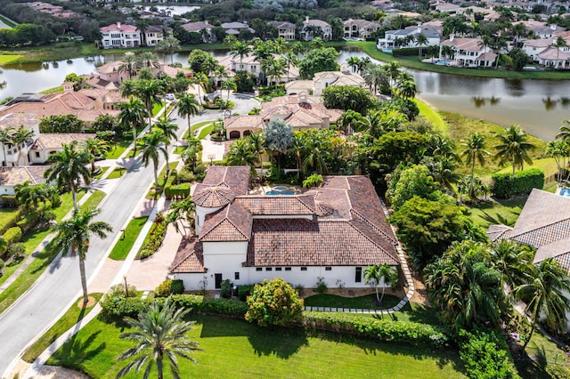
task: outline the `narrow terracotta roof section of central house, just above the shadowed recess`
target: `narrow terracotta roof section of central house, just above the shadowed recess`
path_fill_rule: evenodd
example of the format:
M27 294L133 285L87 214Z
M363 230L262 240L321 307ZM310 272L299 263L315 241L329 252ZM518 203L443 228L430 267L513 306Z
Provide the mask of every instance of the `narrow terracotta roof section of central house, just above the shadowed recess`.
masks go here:
M236 198L253 215L314 215L314 196L245 196Z

